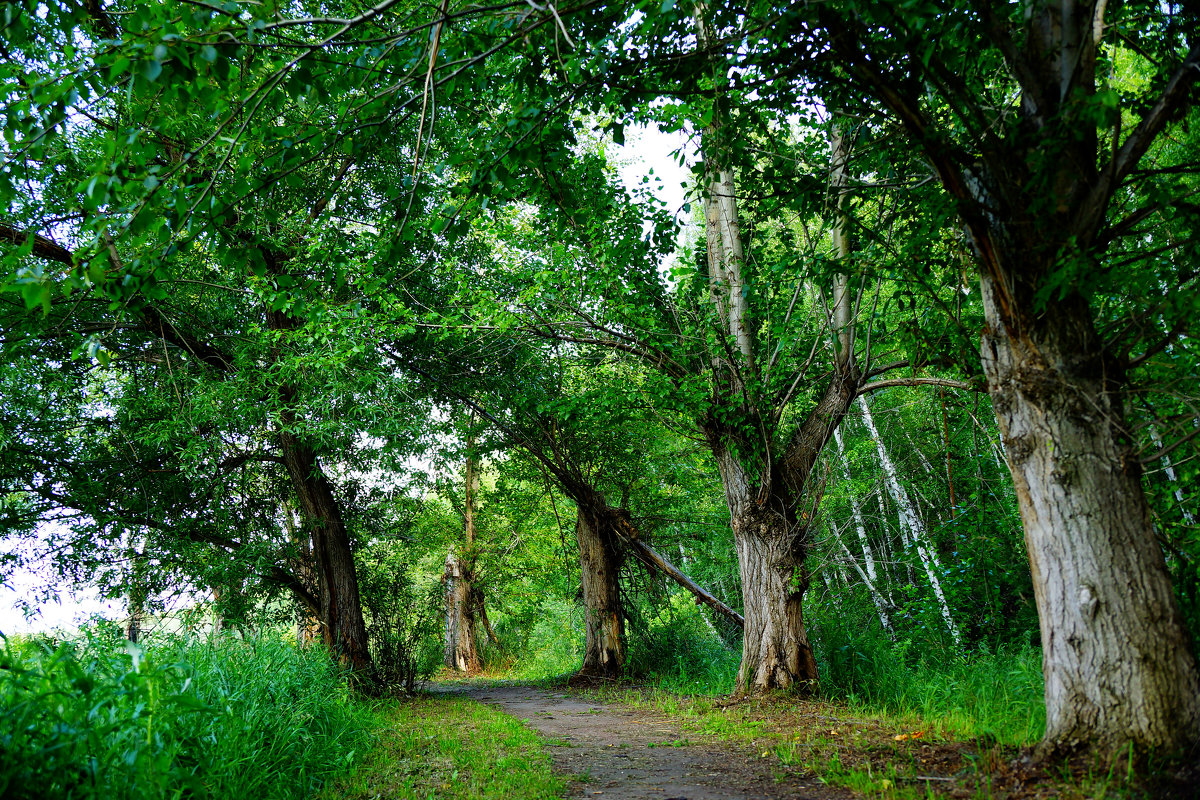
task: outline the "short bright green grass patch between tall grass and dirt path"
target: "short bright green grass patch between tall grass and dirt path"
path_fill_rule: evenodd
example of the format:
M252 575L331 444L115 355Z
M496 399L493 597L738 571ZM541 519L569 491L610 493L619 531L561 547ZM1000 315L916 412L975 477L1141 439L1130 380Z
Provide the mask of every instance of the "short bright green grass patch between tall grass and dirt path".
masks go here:
M539 736L502 711L455 694L422 694L371 709L376 746L324 800L540 800L566 786Z

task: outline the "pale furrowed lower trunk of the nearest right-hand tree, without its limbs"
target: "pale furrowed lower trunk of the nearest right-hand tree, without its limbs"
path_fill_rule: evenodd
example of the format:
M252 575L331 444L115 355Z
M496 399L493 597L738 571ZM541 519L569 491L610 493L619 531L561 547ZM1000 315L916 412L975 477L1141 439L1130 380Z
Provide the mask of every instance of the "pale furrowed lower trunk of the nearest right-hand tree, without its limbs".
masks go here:
M1154 540L1120 375L1087 302L1069 296L1014 331L994 284L983 285L983 363L1042 624L1044 746L1193 745L1196 662Z

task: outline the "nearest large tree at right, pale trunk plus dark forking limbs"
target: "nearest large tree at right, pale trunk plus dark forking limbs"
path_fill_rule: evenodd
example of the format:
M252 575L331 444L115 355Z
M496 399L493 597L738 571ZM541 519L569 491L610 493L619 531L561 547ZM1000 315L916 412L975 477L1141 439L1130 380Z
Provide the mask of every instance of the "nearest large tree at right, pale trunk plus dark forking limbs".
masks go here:
M1013 126L992 128L995 118L979 114L985 127L970 132L967 149L948 146L950 132L925 115L918 95L823 10L832 53L922 148L976 247L984 372L1042 624L1045 751L1162 750L1200 739L1200 678L1124 423L1121 360L1105 353L1087 300L1061 269L1064 258L1105 263L1112 199L1188 108L1200 43L1157 96L1141 98L1130 127L1122 130L1129 115L1114 116L1104 131L1111 146L1098 146L1099 127L1080 100L1097 88L1111 28L1105 7L1030 4L1020 23L980 7L1021 104ZM1054 157L1040 157L1048 152Z

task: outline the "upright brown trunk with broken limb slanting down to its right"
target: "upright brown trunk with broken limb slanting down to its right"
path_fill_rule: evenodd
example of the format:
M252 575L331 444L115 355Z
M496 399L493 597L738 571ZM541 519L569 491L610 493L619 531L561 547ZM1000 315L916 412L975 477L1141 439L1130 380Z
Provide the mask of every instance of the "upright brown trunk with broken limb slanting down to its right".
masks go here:
M580 676L617 678L625 666L625 620L620 606L620 555L604 510L580 506L575 521L580 545L587 644Z

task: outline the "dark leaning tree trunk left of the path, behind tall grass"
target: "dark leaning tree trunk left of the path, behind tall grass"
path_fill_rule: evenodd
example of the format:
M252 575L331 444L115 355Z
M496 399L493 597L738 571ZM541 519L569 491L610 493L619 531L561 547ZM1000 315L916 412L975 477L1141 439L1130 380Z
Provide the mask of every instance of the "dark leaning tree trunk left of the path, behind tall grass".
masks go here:
M280 433L280 444L283 464L300 498L305 527L312 531L325 645L354 670L356 679L370 681L371 652L362 620L359 578L337 498L310 447L300 444L286 428Z

